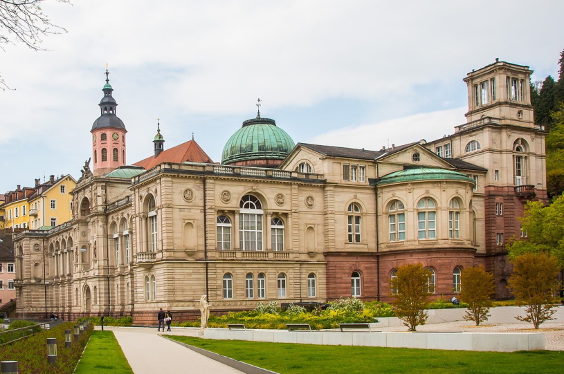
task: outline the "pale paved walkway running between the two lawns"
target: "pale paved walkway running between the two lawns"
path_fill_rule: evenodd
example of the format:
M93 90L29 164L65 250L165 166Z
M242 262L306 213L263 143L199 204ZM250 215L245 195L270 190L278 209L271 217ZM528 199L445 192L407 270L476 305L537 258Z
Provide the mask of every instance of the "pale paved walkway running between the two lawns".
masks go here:
M96 330L100 326L95 326ZM113 331L135 374L213 373L239 374L235 368L221 364L180 344L170 342L154 328L104 326ZM174 330L174 328L173 328ZM199 329L177 328L167 335L197 336Z

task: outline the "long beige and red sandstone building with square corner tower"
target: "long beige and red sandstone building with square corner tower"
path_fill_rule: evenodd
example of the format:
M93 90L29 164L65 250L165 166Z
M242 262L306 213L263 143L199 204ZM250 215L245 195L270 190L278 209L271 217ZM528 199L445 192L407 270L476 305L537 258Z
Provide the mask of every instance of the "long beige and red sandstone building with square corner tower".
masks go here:
M18 312L151 324L158 308L196 318L201 294L215 312L272 300L391 301L404 263L431 270L436 297L460 290L464 268L485 265L507 297L503 244L519 234L523 204L546 199L545 132L519 83L530 73L506 62L469 73L466 124L379 151L291 139L273 148L287 134L257 115L237 131L248 146L232 137L214 164L203 151L162 151L159 126L153 158L85 167L71 221L17 234ZM201 150L193 139L181 146Z

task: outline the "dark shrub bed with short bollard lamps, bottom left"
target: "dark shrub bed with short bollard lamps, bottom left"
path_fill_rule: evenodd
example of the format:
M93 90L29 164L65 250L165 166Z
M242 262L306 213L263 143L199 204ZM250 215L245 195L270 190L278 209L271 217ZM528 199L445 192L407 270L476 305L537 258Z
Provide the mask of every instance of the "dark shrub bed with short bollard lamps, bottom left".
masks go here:
M84 330L78 342L74 341L71 348L64 343L64 330L73 330L75 322L65 322L51 330L44 330L26 339L0 347L0 361L17 361L20 374L66 374L73 373L80 355L91 335L93 326ZM47 362L47 338L57 339L57 362Z

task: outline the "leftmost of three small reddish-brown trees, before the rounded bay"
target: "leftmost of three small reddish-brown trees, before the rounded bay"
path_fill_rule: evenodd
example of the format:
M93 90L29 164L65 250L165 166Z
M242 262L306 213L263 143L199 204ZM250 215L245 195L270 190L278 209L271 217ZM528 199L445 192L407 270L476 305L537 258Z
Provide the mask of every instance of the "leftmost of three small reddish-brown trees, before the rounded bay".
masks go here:
M399 266L392 279L392 290L397 290L394 312L410 331L415 331L417 325L424 325L427 320L425 309L433 292L428 288L431 275L421 263L411 263Z

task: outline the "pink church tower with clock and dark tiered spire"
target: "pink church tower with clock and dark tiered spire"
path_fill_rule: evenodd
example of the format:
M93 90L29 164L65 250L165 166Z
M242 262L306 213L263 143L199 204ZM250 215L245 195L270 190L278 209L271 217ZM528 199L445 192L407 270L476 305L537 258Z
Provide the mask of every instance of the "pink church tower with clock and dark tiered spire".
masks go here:
M92 160L94 176L101 176L125 164L125 124L118 118L118 103L111 93L109 72L106 67L106 84L100 100L100 117L92 125Z

